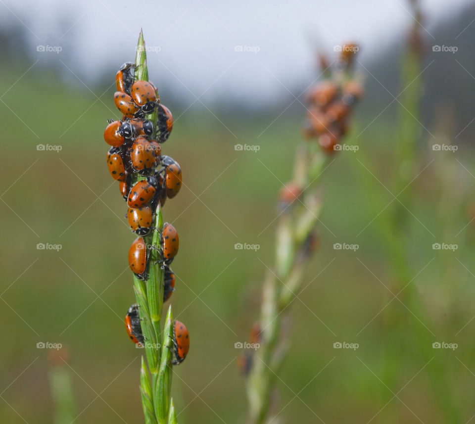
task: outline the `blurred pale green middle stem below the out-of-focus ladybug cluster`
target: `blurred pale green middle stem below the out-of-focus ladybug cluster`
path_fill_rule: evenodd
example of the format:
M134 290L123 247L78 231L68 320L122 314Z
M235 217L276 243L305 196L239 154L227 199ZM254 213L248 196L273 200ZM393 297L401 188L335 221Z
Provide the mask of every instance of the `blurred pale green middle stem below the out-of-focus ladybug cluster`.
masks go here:
M266 421L272 390L285 356L281 323L293 301L308 262L307 241L320 216L321 202L314 186L331 161L317 143L301 144L294 164L293 182L303 190L300 200L287 205L280 215L276 234L275 269L266 275L260 315L260 347L247 380L251 424Z

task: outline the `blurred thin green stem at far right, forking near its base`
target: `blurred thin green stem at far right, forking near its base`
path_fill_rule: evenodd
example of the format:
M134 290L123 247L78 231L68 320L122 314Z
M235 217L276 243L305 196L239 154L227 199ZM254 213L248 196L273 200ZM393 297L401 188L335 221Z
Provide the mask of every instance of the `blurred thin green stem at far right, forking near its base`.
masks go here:
M462 419L454 403L454 397L447 393L449 383L444 372L443 358L441 355L434 354L432 349L432 343L436 341L435 336L423 324L426 322L427 314L415 282L418 273L422 272L422 266L415 270L410 258L410 252L414 249L410 246L409 220L413 219L410 211L414 210L416 198L412 183L419 172L420 153L423 147L420 124L422 72L421 51L408 48L403 55L401 67L404 91L399 103L399 131L396 133L394 154L394 161L398 166L391 186L397 199L392 203L389 213L386 214L386 220L382 220L381 225L381 232L395 275L395 283L391 286L391 291L393 295L397 295L404 306L395 302L383 312L385 341L381 379L390 391L384 391L381 404L386 407L384 420L386 423L400 422L402 417L398 417L398 405L395 403L388 405L388 403L393 398L393 394L399 392L400 386L406 384L407 381L404 381L405 377L403 377L404 364L407 356L413 354L421 358L424 367L427 366L433 396L445 422L460 423ZM416 322L411 321L413 317Z

